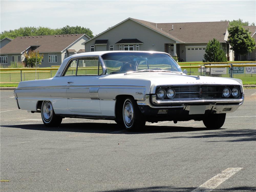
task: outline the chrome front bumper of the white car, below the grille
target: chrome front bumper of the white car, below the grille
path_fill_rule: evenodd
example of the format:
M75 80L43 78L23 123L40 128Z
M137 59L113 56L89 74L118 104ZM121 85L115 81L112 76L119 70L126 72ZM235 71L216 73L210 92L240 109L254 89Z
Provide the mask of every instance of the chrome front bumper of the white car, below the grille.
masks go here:
M156 95L146 95L144 101L137 101L139 106L149 106L150 108L171 110L171 108L183 108L183 111L189 111L193 105L206 105L206 110L211 113L229 113L234 112L242 105L244 93L240 99L197 99L197 100L156 100ZM228 110L227 110L228 109Z

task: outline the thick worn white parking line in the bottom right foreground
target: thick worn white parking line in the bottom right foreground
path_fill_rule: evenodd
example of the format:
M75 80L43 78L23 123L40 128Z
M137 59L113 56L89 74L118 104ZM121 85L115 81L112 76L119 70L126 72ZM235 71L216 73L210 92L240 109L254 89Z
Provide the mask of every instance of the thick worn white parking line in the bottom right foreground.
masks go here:
M196 189L194 189L191 192L209 192L214 190L216 187L218 187L222 182L227 180L229 177L240 171L242 168L241 167L236 167L236 168L227 168L218 175L212 177L209 179L207 182L204 184L200 185Z

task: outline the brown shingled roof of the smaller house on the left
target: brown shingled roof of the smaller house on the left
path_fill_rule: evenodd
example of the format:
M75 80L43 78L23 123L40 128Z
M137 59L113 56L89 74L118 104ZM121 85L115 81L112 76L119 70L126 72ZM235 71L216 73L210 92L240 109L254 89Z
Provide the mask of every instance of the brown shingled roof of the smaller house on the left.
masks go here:
M1 54L21 54L29 47L37 45L39 53L62 52L83 36L88 37L85 34L16 37L2 47L0 52Z

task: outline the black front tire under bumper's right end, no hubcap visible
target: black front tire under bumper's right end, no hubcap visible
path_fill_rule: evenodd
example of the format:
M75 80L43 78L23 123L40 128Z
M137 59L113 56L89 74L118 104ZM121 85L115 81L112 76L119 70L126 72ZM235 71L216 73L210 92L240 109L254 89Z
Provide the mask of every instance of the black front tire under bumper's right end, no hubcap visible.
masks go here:
M226 113L211 114L203 120L203 123L207 128L219 129L224 124L225 119Z

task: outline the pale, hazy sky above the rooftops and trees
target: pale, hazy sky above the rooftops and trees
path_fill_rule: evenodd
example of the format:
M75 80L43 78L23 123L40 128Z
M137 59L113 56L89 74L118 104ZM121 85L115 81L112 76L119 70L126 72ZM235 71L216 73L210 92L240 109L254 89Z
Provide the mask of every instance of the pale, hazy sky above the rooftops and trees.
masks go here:
M0 30L82 26L99 34L128 17L154 23L241 18L256 23L256 1L2 1Z

